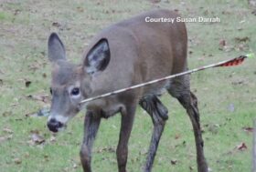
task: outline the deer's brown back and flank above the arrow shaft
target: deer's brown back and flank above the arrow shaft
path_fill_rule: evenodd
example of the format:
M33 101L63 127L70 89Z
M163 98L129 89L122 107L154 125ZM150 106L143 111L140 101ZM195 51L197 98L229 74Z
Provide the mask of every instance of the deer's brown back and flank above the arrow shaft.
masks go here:
M107 93L187 69L187 31L184 23L146 23L146 16L177 15L167 10L151 12L112 25L97 35L88 51L105 37L109 40L111 61L104 73L92 83L94 90ZM141 94L155 94L155 89L162 86L163 83L147 86L142 88ZM99 95L96 92L93 94Z

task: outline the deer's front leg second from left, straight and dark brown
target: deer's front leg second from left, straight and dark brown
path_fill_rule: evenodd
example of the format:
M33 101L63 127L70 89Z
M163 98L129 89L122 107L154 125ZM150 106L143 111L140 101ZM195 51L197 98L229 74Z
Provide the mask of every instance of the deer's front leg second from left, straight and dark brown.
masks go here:
M136 106L126 106L122 109L122 121L119 142L116 149L116 157L118 163L118 171L126 172L126 163L128 157L128 141L133 128L133 118L135 115Z

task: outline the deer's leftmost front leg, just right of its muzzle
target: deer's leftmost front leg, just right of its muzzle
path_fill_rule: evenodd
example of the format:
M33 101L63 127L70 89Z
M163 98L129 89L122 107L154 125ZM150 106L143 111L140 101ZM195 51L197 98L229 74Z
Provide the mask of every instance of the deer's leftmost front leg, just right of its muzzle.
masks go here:
M84 172L91 172L91 148L101 123L101 117L91 111L84 119L84 137L80 147L80 161Z

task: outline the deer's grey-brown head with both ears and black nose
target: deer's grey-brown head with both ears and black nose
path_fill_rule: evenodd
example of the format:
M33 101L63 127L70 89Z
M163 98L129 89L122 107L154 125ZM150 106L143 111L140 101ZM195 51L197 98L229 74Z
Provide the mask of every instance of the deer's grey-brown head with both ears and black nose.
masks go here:
M91 96L92 77L108 66L110 50L106 39L101 39L88 52L83 67L74 65L67 60L65 46L59 36L52 33L48 38L48 59L52 63L50 131L58 132L80 112L80 101Z

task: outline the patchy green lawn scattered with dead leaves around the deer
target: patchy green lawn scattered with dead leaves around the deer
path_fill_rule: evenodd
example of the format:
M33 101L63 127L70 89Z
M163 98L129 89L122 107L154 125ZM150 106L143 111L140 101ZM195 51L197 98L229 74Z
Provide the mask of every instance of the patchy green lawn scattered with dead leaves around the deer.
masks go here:
M188 58L190 68L255 52L256 20L247 1L1 1L0 171L81 171L79 150L84 112L57 136L48 131L46 117L26 116L49 106L48 102L27 98L49 95L49 33L58 32L67 46L69 59L79 63L83 49L103 27L157 7L178 9L186 17L219 16L217 24L187 24L192 53ZM245 36L250 40L236 40ZM228 49L219 50L221 39L227 42ZM191 76L212 171L251 170L252 134L242 128L252 126L255 118L255 66L253 59L248 59L242 66L209 69ZM27 87L26 81L31 81L31 85ZM154 171L197 171L194 137L185 110L167 95L162 100L170 117L155 157ZM94 171L117 171L114 149L119 128L120 116L102 121L93 149ZM44 144L29 142L35 130L45 138ZM138 107L129 143L130 172L143 167L151 133L151 120ZM242 142L248 148L237 150L235 147ZM171 160L176 160L176 165Z

